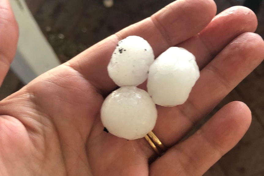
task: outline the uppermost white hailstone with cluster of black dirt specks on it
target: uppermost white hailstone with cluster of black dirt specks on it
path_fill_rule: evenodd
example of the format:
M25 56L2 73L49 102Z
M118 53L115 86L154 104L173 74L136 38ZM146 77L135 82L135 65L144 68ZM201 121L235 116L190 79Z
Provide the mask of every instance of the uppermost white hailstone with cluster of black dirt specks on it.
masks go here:
M118 42L107 66L108 74L119 87L138 86L147 79L154 58L146 40L129 36Z

